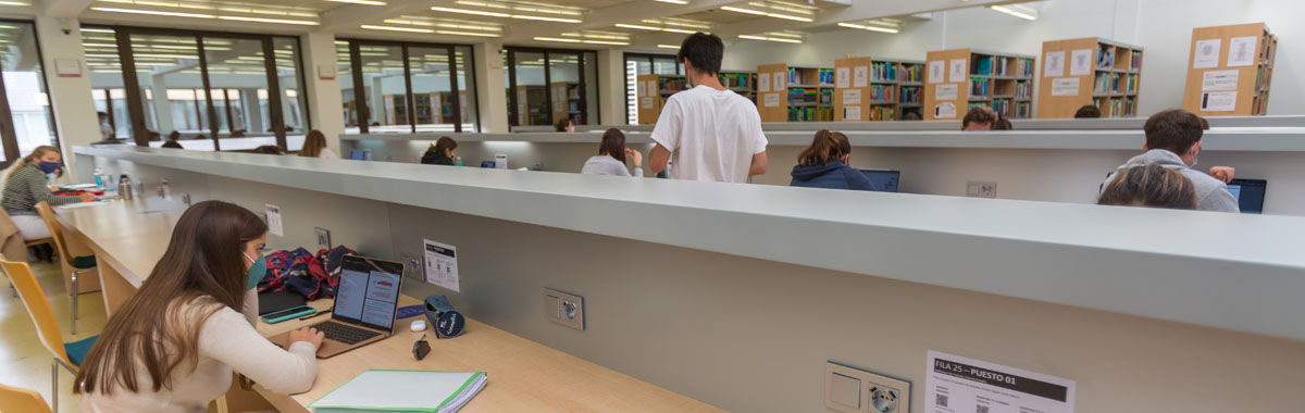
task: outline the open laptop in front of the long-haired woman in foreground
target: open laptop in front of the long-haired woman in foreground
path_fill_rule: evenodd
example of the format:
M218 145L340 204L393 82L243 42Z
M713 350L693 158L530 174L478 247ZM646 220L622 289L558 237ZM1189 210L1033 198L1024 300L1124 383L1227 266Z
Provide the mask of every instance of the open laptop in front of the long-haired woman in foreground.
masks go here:
M317 357L329 358L393 335L402 284L402 263L345 255L330 320L312 326L326 335ZM270 340L290 347L288 332Z

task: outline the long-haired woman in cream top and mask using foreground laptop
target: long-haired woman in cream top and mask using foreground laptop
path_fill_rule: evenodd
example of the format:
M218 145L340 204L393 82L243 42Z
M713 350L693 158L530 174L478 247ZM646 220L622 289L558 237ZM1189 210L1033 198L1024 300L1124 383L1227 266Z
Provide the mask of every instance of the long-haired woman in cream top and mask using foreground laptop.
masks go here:
M81 410L204 412L232 370L274 392L308 391L322 334L296 330L281 349L254 328L266 240L268 225L234 203L181 214L163 258L86 354L73 386Z

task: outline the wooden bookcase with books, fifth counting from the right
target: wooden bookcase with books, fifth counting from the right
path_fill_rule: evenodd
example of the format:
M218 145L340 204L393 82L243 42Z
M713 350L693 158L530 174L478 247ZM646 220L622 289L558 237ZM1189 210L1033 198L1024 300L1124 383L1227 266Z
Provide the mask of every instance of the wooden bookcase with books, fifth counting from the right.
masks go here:
M757 100L757 111L763 122L833 121L834 69L760 65Z

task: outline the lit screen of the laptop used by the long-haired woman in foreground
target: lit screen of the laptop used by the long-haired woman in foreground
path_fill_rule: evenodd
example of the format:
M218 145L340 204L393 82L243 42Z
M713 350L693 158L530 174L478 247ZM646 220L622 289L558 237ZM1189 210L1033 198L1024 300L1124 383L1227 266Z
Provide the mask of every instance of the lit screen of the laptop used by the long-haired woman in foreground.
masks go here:
M331 319L393 331L403 264L345 255Z

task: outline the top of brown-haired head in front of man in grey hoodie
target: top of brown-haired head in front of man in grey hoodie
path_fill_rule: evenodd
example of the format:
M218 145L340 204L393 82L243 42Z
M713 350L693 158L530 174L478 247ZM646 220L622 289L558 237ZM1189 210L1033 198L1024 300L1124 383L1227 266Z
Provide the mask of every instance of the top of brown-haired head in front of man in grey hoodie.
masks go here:
M1098 205L1195 210L1197 186L1181 172L1158 164L1131 167L1118 172L1101 190Z

